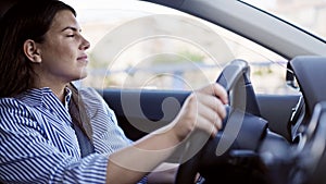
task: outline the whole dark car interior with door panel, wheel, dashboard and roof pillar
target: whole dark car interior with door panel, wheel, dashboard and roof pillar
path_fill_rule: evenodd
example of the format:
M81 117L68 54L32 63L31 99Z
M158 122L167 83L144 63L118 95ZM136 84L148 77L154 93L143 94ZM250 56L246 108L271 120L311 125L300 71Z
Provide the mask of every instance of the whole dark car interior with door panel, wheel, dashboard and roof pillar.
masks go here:
M212 5L210 0L147 1L197 15L276 51L289 60L285 81L300 90L299 95L258 94L252 87L248 62L229 61L216 78L216 83L227 89L230 101L226 106L228 115L223 130L213 139L193 132L184 142L168 159L180 163L175 183L192 183L197 173L205 184L326 183L323 176L326 167L325 41L311 39L311 35L279 20L271 21L266 14L253 14L248 5L234 1L223 1L224 9ZM0 1L0 17L13 2ZM230 7L234 11L222 14ZM237 11L244 15L239 16ZM261 21L271 22L269 27L258 25ZM264 28L269 29L268 33L286 30L286 34L259 34ZM286 42L285 48L279 42ZM98 91L133 140L171 122L191 93L122 88Z

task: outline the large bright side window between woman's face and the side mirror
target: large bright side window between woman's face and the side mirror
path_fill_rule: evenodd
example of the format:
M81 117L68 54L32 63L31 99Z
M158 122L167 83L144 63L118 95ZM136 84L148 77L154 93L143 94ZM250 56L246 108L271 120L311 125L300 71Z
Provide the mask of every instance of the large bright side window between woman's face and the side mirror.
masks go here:
M294 93L285 83L287 61L267 49L168 8L123 2L76 8L91 42L89 76L80 85L189 90L215 82L225 64L243 59L258 93Z

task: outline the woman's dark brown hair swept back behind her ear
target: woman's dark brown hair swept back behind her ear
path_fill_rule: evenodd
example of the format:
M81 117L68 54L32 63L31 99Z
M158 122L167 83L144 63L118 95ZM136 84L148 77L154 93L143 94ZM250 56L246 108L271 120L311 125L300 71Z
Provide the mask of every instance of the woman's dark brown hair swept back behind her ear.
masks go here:
M20 1L0 20L0 98L14 97L33 87L37 74L23 51L25 40L42 42L55 14L76 12L58 0Z

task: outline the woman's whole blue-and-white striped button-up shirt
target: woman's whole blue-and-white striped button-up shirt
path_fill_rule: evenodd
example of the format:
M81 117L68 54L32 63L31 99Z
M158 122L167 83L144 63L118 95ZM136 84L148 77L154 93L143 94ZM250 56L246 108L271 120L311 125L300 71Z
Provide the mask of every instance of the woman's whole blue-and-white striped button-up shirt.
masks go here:
M90 118L96 150L85 158L67 107L50 88L0 99L0 182L105 182L109 155L131 142L95 89L80 89L79 96Z

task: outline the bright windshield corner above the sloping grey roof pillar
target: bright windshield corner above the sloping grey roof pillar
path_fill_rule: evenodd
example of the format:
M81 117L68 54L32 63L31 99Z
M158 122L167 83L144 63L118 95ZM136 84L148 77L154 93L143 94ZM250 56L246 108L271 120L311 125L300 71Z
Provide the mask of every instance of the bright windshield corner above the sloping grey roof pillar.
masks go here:
M241 0L326 39L326 0Z

